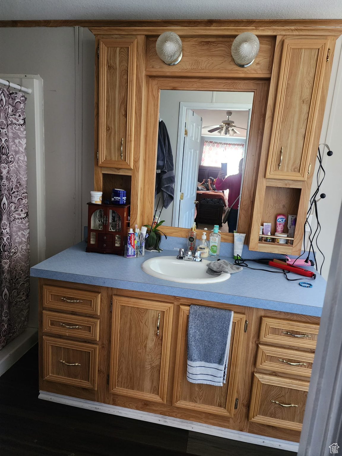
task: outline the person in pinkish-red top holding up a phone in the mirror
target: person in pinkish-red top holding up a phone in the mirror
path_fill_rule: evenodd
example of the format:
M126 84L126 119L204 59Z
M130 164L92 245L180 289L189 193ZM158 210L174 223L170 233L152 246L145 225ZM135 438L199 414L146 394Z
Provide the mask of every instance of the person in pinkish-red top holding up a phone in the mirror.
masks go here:
M239 199L236 200L236 198L240 196L243 165L244 159L242 158L238 164L238 174L232 174L227 177L225 172L221 170L215 182L216 190L229 190L228 207L234 203L227 220L229 233L233 233L238 224L238 205L240 201Z

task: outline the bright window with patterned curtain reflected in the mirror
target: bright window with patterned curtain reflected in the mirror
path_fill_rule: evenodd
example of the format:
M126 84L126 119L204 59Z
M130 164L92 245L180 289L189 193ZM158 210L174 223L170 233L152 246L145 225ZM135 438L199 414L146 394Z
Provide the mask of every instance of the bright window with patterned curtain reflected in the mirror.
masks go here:
M227 174L238 174L238 164L244 156L244 144L204 141L202 166L218 166L227 163Z

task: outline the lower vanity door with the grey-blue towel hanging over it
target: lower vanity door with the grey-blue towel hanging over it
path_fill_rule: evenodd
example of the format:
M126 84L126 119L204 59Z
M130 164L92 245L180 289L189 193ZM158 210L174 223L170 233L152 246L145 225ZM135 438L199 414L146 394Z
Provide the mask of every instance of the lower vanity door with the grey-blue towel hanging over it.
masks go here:
M172 405L201 412L233 416L244 335L245 316L233 314L227 380L223 386L191 383L187 380L187 323L190 306L179 309L176 368Z

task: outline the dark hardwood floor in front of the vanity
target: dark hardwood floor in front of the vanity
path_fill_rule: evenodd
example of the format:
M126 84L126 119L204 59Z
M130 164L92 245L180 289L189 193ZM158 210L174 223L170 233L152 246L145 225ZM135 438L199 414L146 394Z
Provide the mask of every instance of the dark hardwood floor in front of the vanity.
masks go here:
M38 399L38 349L0 377L1 456L295 456Z

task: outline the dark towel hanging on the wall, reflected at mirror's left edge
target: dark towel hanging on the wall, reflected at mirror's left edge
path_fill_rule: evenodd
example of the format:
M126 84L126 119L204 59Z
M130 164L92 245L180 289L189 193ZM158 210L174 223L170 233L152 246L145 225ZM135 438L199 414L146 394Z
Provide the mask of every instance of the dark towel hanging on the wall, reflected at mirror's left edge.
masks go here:
M155 173L155 197L159 192L163 195L163 206L170 206L175 196L175 173L169 134L161 120L158 128L157 166Z

